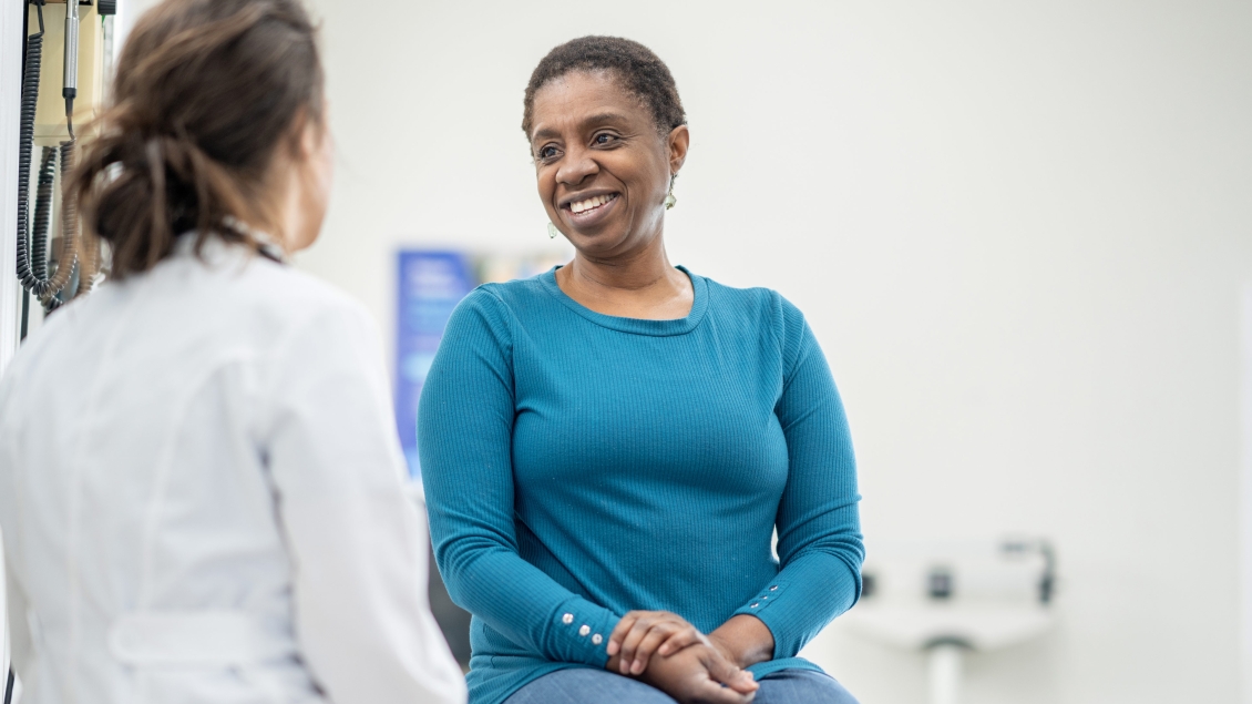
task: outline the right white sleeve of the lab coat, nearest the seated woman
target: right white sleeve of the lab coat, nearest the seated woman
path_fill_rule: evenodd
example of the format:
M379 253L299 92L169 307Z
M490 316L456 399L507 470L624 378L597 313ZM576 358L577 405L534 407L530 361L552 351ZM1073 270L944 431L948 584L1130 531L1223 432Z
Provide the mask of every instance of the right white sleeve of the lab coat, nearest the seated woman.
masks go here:
M322 311L273 360L263 446L294 570L295 631L337 704L466 699L427 603L427 532L404 474L377 332Z

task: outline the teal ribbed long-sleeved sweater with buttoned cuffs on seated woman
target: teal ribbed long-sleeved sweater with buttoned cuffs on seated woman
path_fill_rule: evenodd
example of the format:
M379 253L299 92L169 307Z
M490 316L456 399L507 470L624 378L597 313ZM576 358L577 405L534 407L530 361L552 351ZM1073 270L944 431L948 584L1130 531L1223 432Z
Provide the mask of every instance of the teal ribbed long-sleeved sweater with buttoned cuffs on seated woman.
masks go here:
M856 601L864 550L848 422L804 317L687 272L686 318L617 318L555 272L472 292L422 390L434 555L473 614L471 703L602 668L631 609L705 633L752 614L776 641L757 678L816 669L795 654Z

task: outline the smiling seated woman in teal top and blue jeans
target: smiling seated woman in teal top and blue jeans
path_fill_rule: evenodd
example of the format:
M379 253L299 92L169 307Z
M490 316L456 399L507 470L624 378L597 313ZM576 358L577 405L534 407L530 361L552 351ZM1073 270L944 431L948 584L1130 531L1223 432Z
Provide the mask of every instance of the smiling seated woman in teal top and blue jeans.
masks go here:
M854 701L796 658L860 594L843 405L794 306L670 266L690 137L669 69L573 40L525 108L577 253L461 303L418 415L471 703Z

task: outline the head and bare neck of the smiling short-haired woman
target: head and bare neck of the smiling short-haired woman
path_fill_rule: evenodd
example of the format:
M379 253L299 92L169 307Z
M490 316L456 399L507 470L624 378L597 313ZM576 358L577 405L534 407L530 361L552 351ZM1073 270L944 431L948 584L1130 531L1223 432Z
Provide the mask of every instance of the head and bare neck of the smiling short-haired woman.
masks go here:
M548 218L587 263L618 273L621 261L652 264L622 282L634 296L606 288L590 267L563 267L557 281L575 301L632 318L691 309L691 282L669 264L661 238L664 205L691 142L686 122L670 70L634 41L575 40L535 69L522 130Z

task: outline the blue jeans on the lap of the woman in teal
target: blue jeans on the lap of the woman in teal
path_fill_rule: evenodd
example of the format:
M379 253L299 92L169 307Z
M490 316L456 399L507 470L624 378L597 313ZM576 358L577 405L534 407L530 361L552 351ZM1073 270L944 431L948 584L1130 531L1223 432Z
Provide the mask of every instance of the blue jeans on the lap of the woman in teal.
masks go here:
M505 704L676 704L669 694L608 670L570 668L518 689ZM856 704L829 675L782 670L761 679L752 704Z

